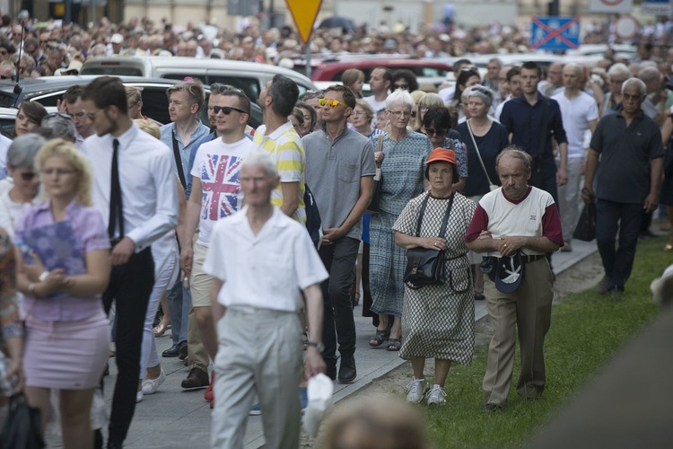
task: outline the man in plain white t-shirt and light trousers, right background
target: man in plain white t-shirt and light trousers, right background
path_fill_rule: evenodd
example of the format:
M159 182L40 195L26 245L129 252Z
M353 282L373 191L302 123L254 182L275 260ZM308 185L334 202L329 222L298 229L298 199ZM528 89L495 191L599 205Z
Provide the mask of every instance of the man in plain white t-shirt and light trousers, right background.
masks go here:
M584 165L584 141L587 130L593 133L599 121L599 106L587 92L581 90L581 66L564 66L564 92L552 98L558 101L568 138L568 182L558 187L558 208L564 231L561 251L572 251L572 233L580 217L580 180Z

